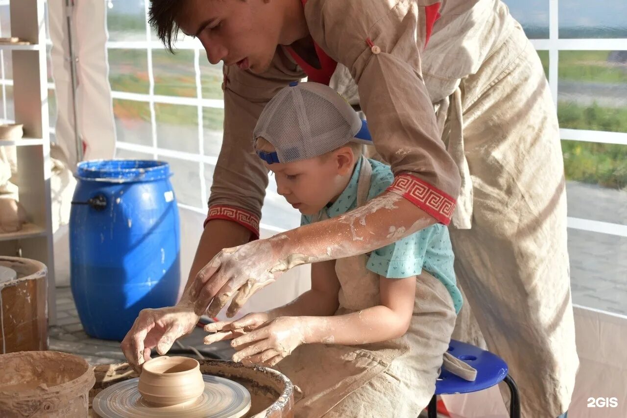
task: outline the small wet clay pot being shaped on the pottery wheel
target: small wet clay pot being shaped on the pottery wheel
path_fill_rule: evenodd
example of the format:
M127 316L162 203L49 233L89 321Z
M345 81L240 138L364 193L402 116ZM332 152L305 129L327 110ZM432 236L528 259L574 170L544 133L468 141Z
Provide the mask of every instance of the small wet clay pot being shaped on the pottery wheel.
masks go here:
M144 363L137 389L146 402L170 406L198 398L204 381L193 358L161 356Z

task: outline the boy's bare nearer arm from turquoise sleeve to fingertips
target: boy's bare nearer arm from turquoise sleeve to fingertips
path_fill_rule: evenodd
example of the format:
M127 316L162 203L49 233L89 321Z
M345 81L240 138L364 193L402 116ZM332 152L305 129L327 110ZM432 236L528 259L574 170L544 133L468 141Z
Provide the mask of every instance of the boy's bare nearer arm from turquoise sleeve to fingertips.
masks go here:
M416 277L386 279L381 304L337 316L281 316L238 336L233 360L273 366L302 344L358 345L393 340L406 333L414 308Z

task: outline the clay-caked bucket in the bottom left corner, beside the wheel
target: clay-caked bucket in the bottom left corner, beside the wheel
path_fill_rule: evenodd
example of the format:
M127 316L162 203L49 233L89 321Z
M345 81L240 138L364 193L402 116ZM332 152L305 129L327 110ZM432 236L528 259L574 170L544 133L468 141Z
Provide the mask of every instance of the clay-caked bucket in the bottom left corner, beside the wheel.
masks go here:
M0 355L0 416L85 417L93 369L79 356L58 351Z

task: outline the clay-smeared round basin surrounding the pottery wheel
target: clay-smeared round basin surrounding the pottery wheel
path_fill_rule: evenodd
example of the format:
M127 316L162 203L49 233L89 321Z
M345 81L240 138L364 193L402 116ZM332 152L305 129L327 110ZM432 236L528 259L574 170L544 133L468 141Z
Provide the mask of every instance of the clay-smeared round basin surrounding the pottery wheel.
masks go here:
M228 378L248 389L251 409L245 418L293 418L294 385L282 373L267 367L246 367L226 360L199 360L199 363L203 375ZM93 398L103 389L137 377L128 363L99 365L94 372L96 383L89 393L90 406Z

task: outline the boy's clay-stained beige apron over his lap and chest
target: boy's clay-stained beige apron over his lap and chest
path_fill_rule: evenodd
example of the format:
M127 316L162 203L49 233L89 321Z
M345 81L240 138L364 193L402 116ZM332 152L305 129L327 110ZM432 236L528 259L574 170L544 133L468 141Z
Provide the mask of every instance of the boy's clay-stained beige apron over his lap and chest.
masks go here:
M357 205L366 203L371 166L362 158ZM323 212L324 213L324 212ZM320 219L314 219L314 222ZM343 315L380 303L379 275L366 269L367 255L335 261ZM418 276L407 333L366 345L310 344L277 365L300 387L297 417L416 417L433 392L455 324L446 287L427 272Z

